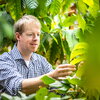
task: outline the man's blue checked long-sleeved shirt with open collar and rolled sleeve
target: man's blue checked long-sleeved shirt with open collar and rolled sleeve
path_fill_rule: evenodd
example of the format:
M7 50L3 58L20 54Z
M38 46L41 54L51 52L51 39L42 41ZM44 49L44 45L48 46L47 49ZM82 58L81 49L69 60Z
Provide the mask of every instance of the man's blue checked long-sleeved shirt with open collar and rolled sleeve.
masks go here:
M34 78L52 71L51 64L39 54L33 53L27 67L16 45L0 56L0 91L17 95L24 79Z

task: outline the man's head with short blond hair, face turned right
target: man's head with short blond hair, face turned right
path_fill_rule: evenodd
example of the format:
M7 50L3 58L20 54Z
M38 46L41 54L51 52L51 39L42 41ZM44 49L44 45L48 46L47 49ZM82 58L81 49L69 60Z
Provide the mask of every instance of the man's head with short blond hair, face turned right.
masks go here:
M26 52L37 50L40 42L41 24L36 17L32 15L23 16L15 23L14 30L17 46L20 50Z

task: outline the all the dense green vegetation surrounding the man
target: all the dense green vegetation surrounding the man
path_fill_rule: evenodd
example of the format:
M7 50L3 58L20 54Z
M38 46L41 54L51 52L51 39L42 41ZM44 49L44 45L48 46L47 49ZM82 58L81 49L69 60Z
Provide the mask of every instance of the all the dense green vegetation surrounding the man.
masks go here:
M41 88L36 94L3 100L99 100L100 99L100 14L99 0L0 0L0 53L14 44L13 24L24 14L36 16L42 25L37 53L53 65L71 63L74 77L62 81L47 76L42 80L55 87ZM76 77L77 76L77 77Z

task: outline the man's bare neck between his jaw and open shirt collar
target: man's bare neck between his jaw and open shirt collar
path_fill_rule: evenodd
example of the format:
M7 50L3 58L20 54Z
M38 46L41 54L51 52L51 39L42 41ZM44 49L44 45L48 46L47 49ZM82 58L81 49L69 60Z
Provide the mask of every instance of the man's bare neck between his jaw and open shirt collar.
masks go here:
M24 60L30 60L31 56L32 56L32 52L27 51L24 48L21 48L19 45L17 45L18 50L20 51L22 57L24 58Z

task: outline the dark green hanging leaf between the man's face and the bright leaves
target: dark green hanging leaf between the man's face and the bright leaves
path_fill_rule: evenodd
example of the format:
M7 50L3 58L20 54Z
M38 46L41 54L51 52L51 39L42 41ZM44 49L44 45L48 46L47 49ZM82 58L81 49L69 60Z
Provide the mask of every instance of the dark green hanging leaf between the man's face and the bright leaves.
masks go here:
M57 39L57 42L53 39L51 43L51 47L47 52L47 59L51 62L51 64L54 64L57 60L60 59L60 61L63 61L64 53L62 50L62 41L61 41L61 35L59 33L55 33L54 37Z

